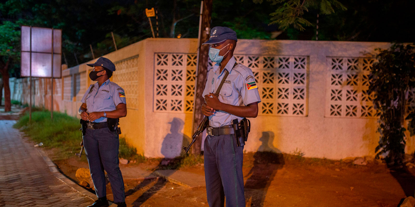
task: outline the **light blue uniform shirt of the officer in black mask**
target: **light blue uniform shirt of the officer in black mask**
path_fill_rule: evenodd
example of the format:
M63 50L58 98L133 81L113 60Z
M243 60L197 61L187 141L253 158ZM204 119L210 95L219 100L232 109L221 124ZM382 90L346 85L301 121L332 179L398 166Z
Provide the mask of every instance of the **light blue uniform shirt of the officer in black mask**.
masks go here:
M94 86L91 90L91 87ZM85 94L82 97L82 103L86 103L86 112L99 112L99 111L114 111L116 106L125 102L125 93L119 85L114 82L110 82L107 79L101 87L98 87L98 82L88 87ZM94 122L105 122L107 118L100 117Z

